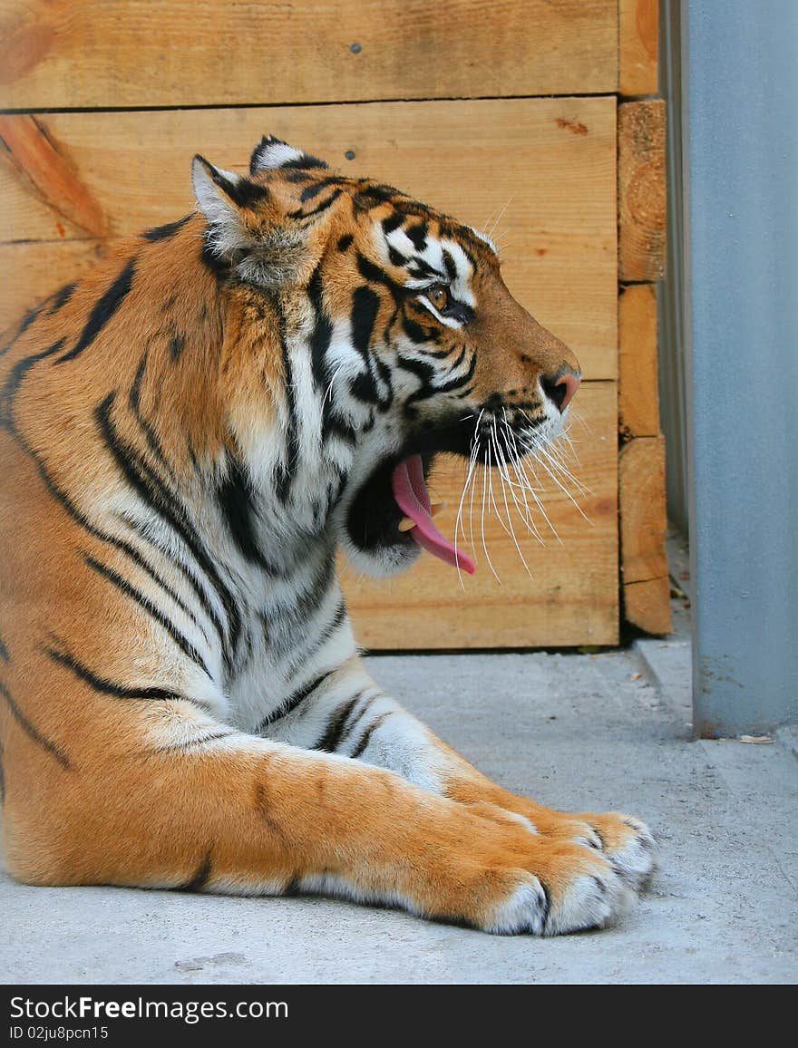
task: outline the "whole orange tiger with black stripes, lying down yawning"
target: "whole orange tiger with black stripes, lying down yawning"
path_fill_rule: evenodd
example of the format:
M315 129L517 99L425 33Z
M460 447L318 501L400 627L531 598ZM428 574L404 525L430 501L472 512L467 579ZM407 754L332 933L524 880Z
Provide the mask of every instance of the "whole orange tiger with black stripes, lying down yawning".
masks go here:
M0 356L7 868L603 926L655 846L482 776L386 695L336 574L419 554L440 452L560 432L573 354L492 242L272 136L197 210L42 303ZM480 442L480 434L486 440Z

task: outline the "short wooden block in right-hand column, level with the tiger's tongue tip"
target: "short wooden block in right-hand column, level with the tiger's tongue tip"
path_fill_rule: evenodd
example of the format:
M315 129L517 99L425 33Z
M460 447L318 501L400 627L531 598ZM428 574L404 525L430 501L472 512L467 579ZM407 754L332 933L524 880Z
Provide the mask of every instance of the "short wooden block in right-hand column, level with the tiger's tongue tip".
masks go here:
M638 437L621 449L619 488L623 582L662 578L668 574L664 437Z

